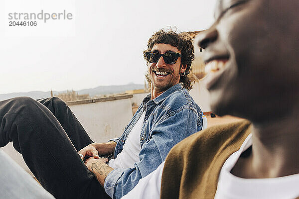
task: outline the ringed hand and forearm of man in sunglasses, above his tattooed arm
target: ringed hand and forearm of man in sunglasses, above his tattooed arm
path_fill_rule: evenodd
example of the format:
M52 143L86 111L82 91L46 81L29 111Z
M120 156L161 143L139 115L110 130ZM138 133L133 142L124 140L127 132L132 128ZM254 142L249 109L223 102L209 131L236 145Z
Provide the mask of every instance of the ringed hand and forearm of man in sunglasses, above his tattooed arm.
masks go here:
M82 154L82 161L84 161L85 156L91 156L96 159L99 158L99 155L113 154L116 146L116 142L108 143L92 143L78 151L79 154Z

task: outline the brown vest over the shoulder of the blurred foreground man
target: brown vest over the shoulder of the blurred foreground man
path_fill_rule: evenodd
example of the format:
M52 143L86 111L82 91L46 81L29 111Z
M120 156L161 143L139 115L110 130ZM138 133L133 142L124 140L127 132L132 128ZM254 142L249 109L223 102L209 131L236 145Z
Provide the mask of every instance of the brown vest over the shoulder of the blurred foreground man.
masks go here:
M176 144L168 153L162 174L161 198L169 195L203 195L214 198L220 170L227 158L239 150L251 132L247 120L217 125L199 131ZM173 175L176 174L176 175ZM190 185L196 188L190 193ZM168 190L171 190L169 192ZM185 197L186 196L186 197ZM193 197L194 198L194 197Z

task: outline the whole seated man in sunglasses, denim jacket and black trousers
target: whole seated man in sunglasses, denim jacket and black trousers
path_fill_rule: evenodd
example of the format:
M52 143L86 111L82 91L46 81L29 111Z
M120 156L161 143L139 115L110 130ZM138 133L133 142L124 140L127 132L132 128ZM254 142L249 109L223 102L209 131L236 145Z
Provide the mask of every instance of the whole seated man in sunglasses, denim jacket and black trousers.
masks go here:
M151 93L119 138L93 143L59 98L20 97L0 101L0 146L12 141L40 184L57 199L120 199L154 171L175 144L206 126L187 91L192 88L187 75L193 53L186 34L154 33L144 52ZM101 158L111 153L109 162Z

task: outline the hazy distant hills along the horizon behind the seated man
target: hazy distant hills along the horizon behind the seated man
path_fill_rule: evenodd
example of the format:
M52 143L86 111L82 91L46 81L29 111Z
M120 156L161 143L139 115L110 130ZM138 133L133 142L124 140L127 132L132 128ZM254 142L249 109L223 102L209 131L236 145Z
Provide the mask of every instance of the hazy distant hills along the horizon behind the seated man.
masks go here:
M135 89L144 89L144 85L141 84L127 84L127 85L119 85L119 86L99 86L94 89L83 89L80 91L76 91L79 95L89 94L90 97L95 95L106 95L106 94L117 94L117 93L124 93L128 90L135 90ZM58 93L64 93L66 91L53 91L53 95L57 95ZM41 91L32 91L28 93L10 93L10 94L0 94L0 101L7 100L10 98L20 97L20 96L27 96L33 99L40 99L40 98L49 98L51 96L51 92L41 92Z

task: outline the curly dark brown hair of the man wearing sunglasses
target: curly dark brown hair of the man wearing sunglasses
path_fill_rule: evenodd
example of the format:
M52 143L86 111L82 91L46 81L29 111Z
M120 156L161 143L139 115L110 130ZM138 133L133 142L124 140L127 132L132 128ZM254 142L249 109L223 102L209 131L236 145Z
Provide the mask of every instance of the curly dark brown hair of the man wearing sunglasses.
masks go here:
M191 63L194 60L194 46L193 41L190 36L185 32L176 33L169 30L161 29L155 32L148 41L148 49L144 51L144 58L146 59L146 52L151 51L152 47L155 44L170 44L173 47L176 47L182 55L181 66L186 65L185 75L180 76L179 82L183 84L183 88L190 91L192 89L192 83L194 82L192 77L188 77L190 73ZM147 62L148 64L148 62ZM146 75L146 79L151 84L149 74Z

